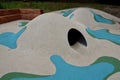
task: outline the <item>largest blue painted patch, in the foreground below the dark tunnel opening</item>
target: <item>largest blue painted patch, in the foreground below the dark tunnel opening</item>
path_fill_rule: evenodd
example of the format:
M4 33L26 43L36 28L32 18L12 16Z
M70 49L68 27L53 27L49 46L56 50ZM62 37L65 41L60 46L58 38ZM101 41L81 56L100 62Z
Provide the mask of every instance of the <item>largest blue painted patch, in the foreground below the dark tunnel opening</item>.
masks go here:
M60 56L54 55L51 61L56 67L56 73L40 78L13 78L12 80L105 80L114 71L114 66L100 62L90 66L73 66L66 63Z

